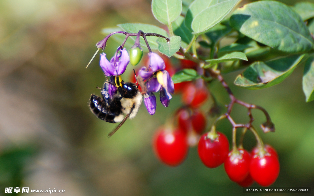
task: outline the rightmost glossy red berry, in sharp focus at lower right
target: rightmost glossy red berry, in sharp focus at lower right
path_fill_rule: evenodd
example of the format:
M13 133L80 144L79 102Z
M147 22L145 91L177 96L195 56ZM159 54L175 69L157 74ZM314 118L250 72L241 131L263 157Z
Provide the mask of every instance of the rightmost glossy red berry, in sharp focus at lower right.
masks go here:
M279 175L279 161L274 154L263 157L254 155L250 163L250 174L261 186L267 187L274 183Z

